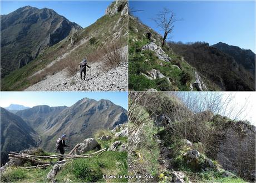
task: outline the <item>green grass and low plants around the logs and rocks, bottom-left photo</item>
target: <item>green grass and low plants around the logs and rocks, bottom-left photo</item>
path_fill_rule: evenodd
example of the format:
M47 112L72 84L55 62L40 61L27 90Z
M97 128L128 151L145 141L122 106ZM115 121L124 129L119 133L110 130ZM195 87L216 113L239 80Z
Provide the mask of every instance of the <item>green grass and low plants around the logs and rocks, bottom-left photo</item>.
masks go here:
M1 167L1 182L127 182L127 179L124 178L124 175L127 174L127 152L125 149L121 149L122 145L117 145L115 149L113 149L112 145L116 141L119 141L120 144L127 143L127 136L115 135L118 132L120 132L118 129L113 132L110 130L96 131L95 138L97 138L100 149L106 148L109 150L91 157L70 159L64 164L58 163L57 160L52 160L52 165L50 166L41 169L27 169L27 166L34 166L33 162L26 160L19 162L17 159L12 158L8 166ZM111 137L111 139L102 139L102 136L105 135ZM88 155L99 151L99 147L97 146L96 148L93 144L88 147L94 148L85 153L82 153L82 151L79 153L79 150L76 153ZM21 153L52 155L52 153L46 153L42 149L25 150ZM56 165L59 167L58 169L55 168ZM109 179L105 178L104 175L122 175L122 178L113 177Z

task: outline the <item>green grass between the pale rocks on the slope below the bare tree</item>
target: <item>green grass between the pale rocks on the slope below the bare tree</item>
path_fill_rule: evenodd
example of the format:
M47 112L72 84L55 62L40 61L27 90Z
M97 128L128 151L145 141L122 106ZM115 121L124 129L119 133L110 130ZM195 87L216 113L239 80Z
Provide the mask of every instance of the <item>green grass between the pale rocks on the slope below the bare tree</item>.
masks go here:
M152 34L151 40L146 38L146 33ZM162 49L170 57L171 62L165 62L156 57L151 50L141 50L142 46L155 42L161 45L161 35L151 28L142 24L139 19L130 16L129 18L129 89L147 90L155 88L162 91L189 90L190 84L195 82L195 68L191 67L186 60L165 45ZM178 68L178 67L180 68ZM170 83L165 79L150 80L142 73L152 69L159 70L169 78ZM205 79L205 78L204 78ZM218 90L205 79L209 90Z

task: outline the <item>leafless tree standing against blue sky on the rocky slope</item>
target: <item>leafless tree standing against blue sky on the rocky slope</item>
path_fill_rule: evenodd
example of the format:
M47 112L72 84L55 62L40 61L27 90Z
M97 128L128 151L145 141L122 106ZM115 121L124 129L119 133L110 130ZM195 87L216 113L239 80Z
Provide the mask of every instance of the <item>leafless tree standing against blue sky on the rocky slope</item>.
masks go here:
M181 21L181 19L176 19L175 14L168 8L164 8L163 11L157 14L156 18L153 18L156 22L157 27L160 27L164 31L164 37L162 42L162 47L165 45L165 40L168 37L168 34L173 31L174 23Z

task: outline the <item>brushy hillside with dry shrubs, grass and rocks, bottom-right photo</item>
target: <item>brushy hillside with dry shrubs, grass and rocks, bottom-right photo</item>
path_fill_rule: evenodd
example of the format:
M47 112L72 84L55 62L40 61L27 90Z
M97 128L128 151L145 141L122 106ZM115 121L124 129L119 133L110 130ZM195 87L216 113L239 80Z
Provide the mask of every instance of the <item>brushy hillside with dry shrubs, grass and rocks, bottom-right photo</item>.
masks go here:
M129 115L129 181L255 181L255 126L247 121L195 113L174 94L152 92L131 92Z

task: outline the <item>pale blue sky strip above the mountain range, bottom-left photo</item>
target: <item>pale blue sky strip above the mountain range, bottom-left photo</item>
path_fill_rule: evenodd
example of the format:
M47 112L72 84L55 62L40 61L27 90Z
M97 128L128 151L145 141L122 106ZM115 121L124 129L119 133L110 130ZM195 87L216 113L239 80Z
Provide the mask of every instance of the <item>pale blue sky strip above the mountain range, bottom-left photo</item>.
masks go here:
M1 106L10 104L24 106L49 105L49 106L71 106L83 98L95 100L108 99L116 105L127 110L127 92L1 92Z

